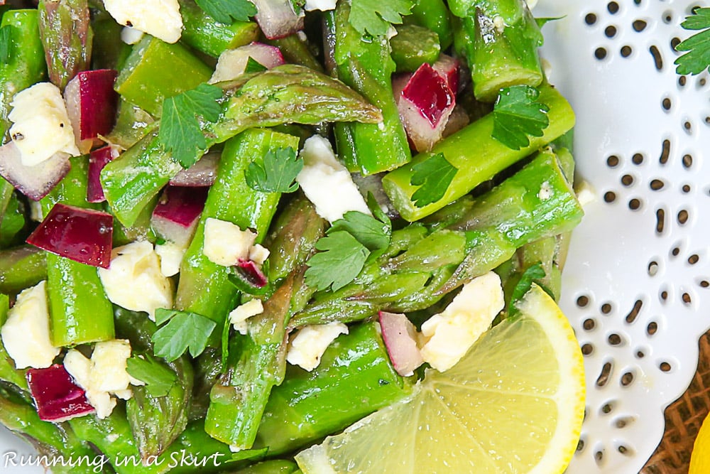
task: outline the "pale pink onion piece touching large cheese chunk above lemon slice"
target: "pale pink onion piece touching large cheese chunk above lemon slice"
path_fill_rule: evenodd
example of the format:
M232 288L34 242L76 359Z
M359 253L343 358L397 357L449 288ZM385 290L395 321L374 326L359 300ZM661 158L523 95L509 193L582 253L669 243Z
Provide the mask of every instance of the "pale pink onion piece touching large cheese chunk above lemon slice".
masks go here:
M403 377L424 363L417 347L417 330L403 314L379 312L380 328L395 371Z

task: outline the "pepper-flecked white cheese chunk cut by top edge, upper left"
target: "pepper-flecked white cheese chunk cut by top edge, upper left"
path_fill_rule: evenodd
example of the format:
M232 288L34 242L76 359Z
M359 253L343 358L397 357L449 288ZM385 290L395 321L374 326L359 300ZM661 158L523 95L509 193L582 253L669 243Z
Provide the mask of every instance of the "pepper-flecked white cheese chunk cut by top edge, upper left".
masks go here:
M165 43L182 35L178 0L104 0L104 7L116 22L148 33Z

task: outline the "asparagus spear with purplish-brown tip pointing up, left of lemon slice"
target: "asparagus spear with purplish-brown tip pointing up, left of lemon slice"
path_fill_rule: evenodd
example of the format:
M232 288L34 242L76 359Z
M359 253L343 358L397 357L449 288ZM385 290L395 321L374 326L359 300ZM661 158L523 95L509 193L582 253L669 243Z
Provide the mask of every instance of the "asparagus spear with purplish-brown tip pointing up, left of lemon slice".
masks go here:
M249 319L249 334L231 339L229 361L212 388L205 420L210 436L242 449L251 447L271 389L283 381L286 325L310 297L303 284L303 265L324 225L312 205L300 199L287 208L275 228L268 244L273 251L270 279L288 276L263 303L263 313Z

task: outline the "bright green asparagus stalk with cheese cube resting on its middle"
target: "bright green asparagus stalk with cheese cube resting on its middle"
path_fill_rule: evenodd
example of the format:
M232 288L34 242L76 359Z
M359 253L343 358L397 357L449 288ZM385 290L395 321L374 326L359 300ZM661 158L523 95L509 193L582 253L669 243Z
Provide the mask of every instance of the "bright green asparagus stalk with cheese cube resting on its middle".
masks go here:
M244 131L226 143L217 181L209 190L195 237L182 259L175 308L207 316L222 327L227 313L234 308L236 288L229 282L229 269L205 257L204 224L209 218L227 220L243 230L256 231L261 242L276 212L280 193L250 188L246 168L253 161L263 160L268 151L289 147L297 149L297 137L266 129Z

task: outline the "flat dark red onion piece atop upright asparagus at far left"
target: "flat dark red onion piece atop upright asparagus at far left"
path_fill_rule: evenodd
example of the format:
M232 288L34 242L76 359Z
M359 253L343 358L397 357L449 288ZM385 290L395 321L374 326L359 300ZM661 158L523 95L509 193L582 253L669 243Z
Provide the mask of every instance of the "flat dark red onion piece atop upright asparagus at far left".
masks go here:
M27 243L82 264L109 268L114 217L107 212L55 204Z

